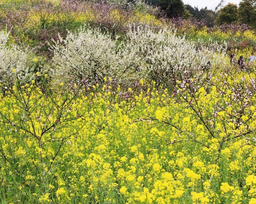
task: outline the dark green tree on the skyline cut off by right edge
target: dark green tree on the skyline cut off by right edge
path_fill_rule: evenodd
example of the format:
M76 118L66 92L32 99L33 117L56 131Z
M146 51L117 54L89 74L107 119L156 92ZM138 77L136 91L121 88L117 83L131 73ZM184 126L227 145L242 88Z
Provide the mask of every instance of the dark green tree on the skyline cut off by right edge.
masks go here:
M256 0L242 0L239 3L238 19L241 23L256 27Z

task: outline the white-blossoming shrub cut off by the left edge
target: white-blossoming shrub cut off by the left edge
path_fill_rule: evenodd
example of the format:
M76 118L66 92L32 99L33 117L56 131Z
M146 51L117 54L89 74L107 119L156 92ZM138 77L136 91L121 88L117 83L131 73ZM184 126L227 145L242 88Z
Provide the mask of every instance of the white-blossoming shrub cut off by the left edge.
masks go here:
M9 33L0 31L0 83L14 81L17 76L24 80L28 77L26 52L17 46L7 46Z

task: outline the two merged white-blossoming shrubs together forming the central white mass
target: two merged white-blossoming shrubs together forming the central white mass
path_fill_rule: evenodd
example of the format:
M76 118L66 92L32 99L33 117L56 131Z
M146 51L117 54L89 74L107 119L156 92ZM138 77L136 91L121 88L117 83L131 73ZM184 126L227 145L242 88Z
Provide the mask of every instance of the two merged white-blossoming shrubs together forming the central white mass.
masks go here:
M225 59L216 46L198 47L168 29L142 27L129 29L123 41L99 29L81 29L55 42L52 51L57 78L146 78L165 85L218 68Z

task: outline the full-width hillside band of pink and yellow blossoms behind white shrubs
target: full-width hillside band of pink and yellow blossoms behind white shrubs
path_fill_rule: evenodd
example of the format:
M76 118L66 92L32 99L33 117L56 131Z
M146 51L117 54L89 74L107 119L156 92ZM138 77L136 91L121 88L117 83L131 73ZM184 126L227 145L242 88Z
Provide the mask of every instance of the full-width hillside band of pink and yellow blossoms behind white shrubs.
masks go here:
M221 25L206 27L204 21L196 19L167 19L153 6L142 1L81 1L81 0L4 0L0 4L0 29L10 30L10 43L35 48L38 52L48 51L48 42L58 40L67 30L74 31L81 26L101 27L113 37L129 31L130 25L147 25L153 29L169 27L178 35L197 42L200 39L209 45L212 41L224 42L231 52L235 49L252 47L256 43L255 32L250 27Z

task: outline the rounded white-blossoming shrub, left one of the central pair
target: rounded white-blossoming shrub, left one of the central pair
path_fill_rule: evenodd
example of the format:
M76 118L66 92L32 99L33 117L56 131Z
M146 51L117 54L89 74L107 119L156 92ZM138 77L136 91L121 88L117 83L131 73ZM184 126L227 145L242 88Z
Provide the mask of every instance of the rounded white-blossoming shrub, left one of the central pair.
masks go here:
M117 73L116 40L99 29L69 32L65 39L60 37L52 45L52 51L57 79L77 83L88 78L102 80Z

